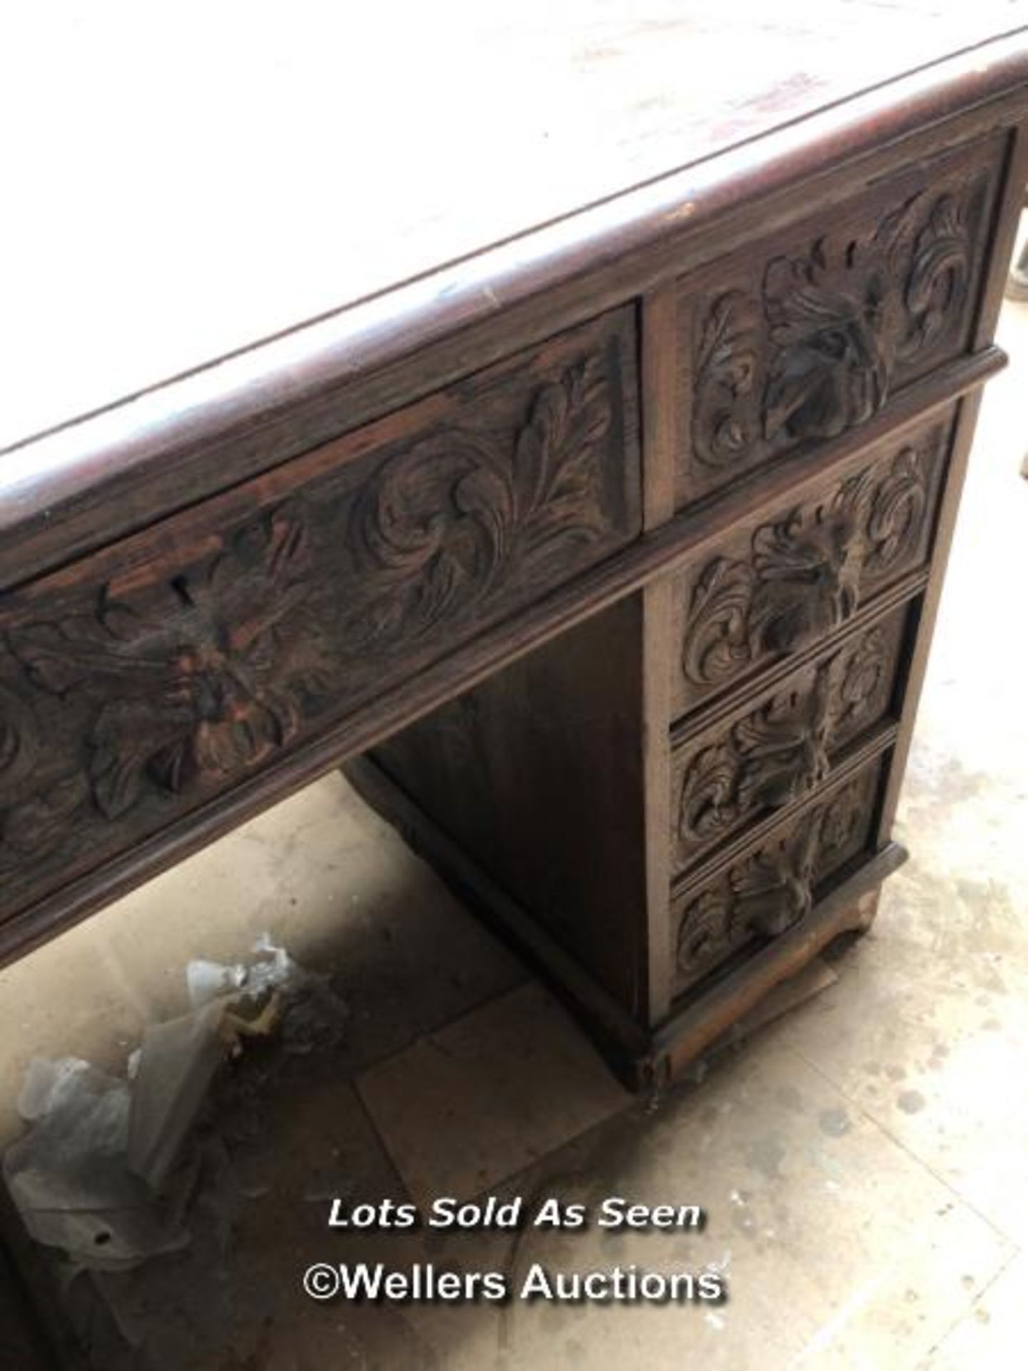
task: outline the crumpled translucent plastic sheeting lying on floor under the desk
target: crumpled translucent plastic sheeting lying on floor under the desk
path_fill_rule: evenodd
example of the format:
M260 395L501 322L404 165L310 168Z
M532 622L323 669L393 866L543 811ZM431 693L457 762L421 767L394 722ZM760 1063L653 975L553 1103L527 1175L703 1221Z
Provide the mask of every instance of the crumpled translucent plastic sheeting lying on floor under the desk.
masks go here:
M191 1010L145 1030L125 1079L77 1057L30 1064L18 1101L27 1127L3 1172L37 1242L108 1271L189 1243L204 1171L193 1124L221 1063L254 1035L274 1032L286 1052L332 1046L347 1021L328 978L267 935L254 953L249 964L192 961Z

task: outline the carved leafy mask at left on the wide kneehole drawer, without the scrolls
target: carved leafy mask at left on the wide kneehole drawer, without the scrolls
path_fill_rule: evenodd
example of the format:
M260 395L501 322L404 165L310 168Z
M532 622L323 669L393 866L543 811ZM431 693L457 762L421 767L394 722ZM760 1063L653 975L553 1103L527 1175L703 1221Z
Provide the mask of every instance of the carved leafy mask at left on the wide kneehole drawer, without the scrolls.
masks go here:
M145 779L177 794L296 733L304 694L323 686L313 594L303 520L280 510L138 603L104 588L93 618L29 625L12 648L40 690L95 702L89 790L117 818Z

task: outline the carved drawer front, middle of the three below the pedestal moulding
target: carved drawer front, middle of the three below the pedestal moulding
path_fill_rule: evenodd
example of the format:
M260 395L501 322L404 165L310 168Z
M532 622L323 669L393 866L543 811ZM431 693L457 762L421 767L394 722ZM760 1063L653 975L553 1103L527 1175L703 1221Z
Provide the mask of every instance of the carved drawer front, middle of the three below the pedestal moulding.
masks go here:
M676 873L827 781L896 721L909 606L787 676L710 728L672 739Z

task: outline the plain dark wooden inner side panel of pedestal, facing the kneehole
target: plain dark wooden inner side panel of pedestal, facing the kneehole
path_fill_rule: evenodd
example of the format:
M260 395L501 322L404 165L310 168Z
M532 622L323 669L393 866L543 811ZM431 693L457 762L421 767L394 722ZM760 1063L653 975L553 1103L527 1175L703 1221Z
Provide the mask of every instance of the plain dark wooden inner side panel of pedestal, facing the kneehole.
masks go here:
M595 614L370 757L646 1023L641 613Z

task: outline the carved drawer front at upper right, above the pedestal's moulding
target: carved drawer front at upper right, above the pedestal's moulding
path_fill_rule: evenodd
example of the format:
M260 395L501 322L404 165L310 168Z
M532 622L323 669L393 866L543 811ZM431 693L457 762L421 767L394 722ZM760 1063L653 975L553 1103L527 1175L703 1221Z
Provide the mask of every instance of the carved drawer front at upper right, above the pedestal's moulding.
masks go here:
M936 158L683 278L680 507L968 351L1003 149Z

